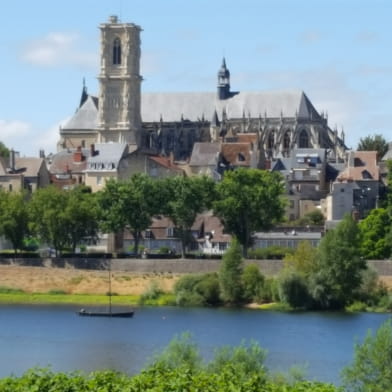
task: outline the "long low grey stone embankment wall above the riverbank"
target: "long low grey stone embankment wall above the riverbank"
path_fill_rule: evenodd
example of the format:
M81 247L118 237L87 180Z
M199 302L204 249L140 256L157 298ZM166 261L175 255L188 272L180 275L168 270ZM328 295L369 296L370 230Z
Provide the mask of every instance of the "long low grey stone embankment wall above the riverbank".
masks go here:
M265 275L274 275L282 268L281 260L247 260L246 264L255 263ZM105 270L107 259L0 259L0 265L21 265L32 267L77 268L89 270ZM205 259L112 259L113 271L135 273L205 273L219 269L220 260ZM371 260L369 265L379 275L392 276L392 260Z

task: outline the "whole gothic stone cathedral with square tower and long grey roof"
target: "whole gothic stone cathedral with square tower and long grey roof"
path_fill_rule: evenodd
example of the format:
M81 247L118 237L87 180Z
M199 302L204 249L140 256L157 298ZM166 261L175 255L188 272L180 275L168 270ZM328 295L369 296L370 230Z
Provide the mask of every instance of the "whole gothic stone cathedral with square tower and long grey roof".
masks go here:
M74 116L60 128L59 150L95 143L127 143L151 156L188 161L196 142L235 142L257 135L263 158L290 157L293 149L324 148L328 159L343 159L343 132L328 126L302 91L231 91L225 59L211 92L143 93L140 32L111 16L101 31L99 94L84 85Z

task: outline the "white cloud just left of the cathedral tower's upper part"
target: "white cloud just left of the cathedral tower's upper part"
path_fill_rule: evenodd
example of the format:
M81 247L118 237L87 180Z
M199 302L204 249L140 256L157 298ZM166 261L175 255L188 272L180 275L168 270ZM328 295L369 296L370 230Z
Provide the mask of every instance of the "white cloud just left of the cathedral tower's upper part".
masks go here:
M98 64L97 54L83 50L81 41L76 33L52 32L28 42L21 58L24 62L41 67L76 65L95 68Z

